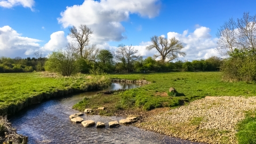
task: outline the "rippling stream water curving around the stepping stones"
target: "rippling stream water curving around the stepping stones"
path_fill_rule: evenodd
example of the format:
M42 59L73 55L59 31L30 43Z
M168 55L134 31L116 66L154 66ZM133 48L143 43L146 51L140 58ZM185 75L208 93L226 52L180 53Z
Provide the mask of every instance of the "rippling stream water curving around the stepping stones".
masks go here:
M139 86L141 85L113 83L103 91L132 89ZM29 137L29 143L193 143L145 131L132 125L109 128L108 122L119 121L123 119L122 117L89 114L81 116L84 120L93 120L95 123L104 122L106 127L100 129L72 123L69 115L79 112L72 109L72 106L86 95L96 93L85 92L42 102L37 106L22 110L12 117L10 122L19 134Z

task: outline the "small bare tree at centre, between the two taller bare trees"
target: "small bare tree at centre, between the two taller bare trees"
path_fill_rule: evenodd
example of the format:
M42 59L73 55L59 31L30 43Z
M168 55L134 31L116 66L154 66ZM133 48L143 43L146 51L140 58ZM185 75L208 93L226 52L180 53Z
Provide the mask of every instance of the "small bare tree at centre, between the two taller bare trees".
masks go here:
M138 50L135 50L132 45L125 46L124 44L119 44L115 54L116 59L123 64L126 71L131 71L133 63L142 59L140 54L136 55L137 53Z

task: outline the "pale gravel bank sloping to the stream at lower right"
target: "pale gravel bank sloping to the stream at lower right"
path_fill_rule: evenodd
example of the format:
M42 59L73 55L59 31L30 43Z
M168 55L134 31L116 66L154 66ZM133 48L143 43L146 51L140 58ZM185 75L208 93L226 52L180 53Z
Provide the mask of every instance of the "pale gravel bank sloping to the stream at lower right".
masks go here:
M143 118L142 129L206 143L237 143L236 124L256 109L256 97L205 97Z

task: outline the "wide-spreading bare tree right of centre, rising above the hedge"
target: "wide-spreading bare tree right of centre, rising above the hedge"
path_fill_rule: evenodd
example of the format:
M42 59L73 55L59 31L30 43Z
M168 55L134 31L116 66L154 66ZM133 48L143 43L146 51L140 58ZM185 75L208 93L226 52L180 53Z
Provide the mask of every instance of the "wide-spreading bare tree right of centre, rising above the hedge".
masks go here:
M156 49L158 54L155 54L153 58L156 59L161 57L160 61L162 63L166 60L167 62L172 61L178 58L179 55L182 55L183 57L186 55L185 52L181 52L181 49L183 49L182 43L175 37L167 39L162 36L153 36L150 39L153 44L147 46L146 49L149 51Z

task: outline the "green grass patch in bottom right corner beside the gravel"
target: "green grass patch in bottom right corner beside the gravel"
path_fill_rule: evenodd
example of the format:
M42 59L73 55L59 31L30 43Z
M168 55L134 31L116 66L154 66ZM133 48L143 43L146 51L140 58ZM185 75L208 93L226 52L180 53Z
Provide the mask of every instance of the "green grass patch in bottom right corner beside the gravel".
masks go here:
M256 111L247 111L246 118L237 125L238 143L256 143Z

